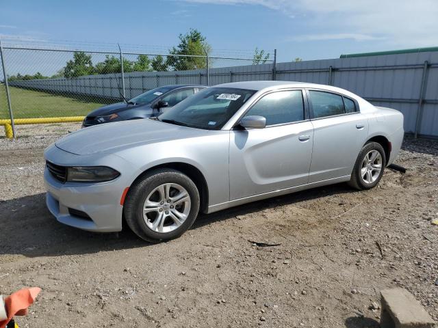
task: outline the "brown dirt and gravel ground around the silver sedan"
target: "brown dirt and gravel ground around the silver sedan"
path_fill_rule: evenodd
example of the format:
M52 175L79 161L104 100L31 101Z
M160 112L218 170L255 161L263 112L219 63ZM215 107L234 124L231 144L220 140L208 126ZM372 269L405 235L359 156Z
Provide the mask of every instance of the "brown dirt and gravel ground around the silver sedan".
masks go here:
M371 191L255 202L148 245L128 229L69 228L45 208L43 149L77 127L0 139L0 294L42 288L20 327L378 327L372 303L396 286L438 319L438 141L404 141L407 174L387 169Z

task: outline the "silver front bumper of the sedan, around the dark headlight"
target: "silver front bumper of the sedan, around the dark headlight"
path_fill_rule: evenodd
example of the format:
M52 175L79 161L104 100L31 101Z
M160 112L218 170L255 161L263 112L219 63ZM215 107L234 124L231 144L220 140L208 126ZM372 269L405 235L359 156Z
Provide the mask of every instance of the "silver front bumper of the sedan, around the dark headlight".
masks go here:
M120 176L112 181L62 183L55 179L46 167L44 183L47 189L47 208L57 221L92 232L122 230L123 206L120 205L120 198L132 182L131 176L126 172L135 172L129 163L115 155L99 156L99 159L93 160L92 156L70 154L55 146L48 148L44 156L57 165L93 166L102 165L102 162L106 161L107 166L117 169ZM75 215L77 211L86 213L88 217Z

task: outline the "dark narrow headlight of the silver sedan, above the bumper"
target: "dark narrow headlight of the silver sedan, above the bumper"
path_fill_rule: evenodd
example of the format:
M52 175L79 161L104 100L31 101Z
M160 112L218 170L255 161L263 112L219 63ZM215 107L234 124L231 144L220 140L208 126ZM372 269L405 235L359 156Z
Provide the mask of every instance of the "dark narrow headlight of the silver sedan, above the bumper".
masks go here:
M67 167L69 182L104 182L120 176L115 169L106 166Z

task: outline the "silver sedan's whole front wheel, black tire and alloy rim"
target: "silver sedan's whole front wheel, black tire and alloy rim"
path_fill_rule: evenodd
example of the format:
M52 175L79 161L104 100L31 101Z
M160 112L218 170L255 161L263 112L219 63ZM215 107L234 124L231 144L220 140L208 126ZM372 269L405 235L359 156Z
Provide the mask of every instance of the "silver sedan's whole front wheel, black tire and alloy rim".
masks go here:
M199 206L198 189L188 176L175 169L154 169L129 188L123 213L137 236L159 243L188 230Z

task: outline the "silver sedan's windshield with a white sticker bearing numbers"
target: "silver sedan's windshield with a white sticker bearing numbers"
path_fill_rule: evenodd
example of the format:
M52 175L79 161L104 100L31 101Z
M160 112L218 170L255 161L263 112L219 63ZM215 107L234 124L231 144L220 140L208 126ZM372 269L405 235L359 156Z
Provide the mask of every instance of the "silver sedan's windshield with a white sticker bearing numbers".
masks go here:
M219 130L253 94L254 90L209 87L179 102L158 119L193 128Z

